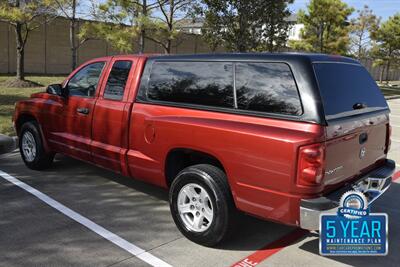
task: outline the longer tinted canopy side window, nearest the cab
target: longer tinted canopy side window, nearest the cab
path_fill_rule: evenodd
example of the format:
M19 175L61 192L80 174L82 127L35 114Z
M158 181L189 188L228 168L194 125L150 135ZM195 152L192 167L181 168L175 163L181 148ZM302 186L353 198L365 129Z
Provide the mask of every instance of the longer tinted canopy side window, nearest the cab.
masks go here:
M147 96L152 100L233 107L232 63L155 62Z

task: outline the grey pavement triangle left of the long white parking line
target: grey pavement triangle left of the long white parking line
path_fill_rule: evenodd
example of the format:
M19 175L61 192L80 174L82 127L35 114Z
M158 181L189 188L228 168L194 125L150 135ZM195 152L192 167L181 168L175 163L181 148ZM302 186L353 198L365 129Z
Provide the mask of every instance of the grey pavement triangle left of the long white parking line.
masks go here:
M2 266L107 266L131 256L3 179L0 203Z

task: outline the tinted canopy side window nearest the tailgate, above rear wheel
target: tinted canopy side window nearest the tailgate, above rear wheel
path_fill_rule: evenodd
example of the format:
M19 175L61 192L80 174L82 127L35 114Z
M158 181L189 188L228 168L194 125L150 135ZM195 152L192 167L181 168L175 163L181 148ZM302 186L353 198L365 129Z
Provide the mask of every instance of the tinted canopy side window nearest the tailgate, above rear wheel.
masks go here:
M238 109L301 115L297 87L283 63L236 64Z

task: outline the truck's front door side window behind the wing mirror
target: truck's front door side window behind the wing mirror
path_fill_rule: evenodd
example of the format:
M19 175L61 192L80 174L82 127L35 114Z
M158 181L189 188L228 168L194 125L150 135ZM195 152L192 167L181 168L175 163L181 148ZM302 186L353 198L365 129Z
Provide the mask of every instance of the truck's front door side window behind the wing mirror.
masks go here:
M105 62L95 62L83 67L68 82L70 96L93 97Z

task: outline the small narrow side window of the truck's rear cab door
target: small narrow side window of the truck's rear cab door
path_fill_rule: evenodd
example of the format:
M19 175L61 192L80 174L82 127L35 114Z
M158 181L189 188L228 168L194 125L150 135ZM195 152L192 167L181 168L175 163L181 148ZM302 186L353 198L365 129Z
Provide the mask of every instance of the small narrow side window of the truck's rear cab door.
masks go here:
M115 61L108 76L104 98L122 100L131 67L132 61L130 60Z

